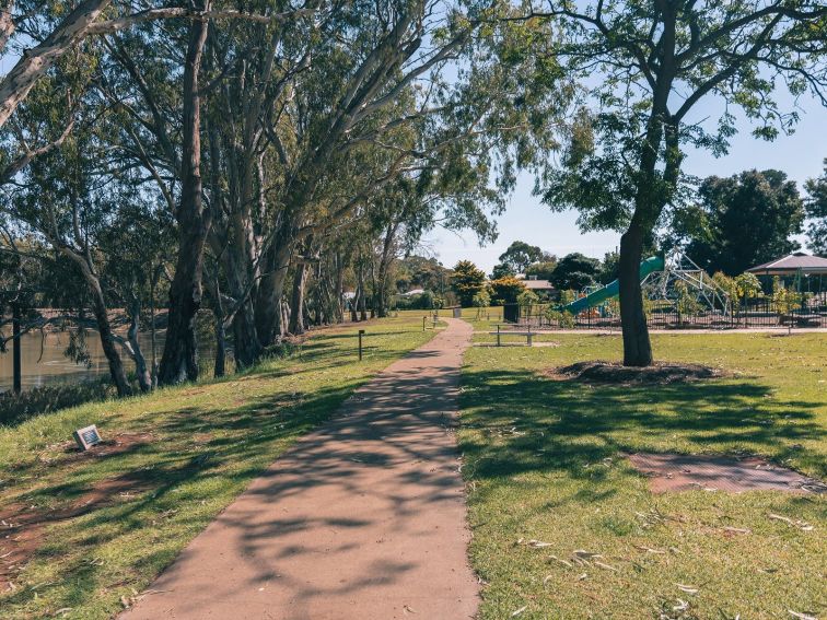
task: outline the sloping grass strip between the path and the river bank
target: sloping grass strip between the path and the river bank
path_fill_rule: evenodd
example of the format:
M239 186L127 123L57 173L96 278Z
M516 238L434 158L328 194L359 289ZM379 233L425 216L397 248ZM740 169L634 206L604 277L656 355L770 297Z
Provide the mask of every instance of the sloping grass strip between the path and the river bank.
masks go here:
M421 313L360 327L362 363L357 327L329 329L243 375L0 428L0 514L50 515L14 589L0 594L0 618L112 617L296 437L433 335ZM72 431L90 423L105 440L141 441L104 446L109 456L68 449ZM84 514L54 522L90 500ZM4 536L0 557L13 549Z

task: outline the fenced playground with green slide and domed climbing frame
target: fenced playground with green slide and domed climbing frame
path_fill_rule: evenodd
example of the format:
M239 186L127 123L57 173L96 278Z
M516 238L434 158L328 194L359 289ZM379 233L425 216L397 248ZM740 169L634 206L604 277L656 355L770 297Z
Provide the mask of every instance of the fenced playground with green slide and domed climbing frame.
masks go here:
M680 250L640 264L647 321L653 328L827 327L827 294L808 294L782 308L772 295L731 300L703 269ZM619 282L586 290L559 306L504 308L513 323L543 327L615 328L620 326Z

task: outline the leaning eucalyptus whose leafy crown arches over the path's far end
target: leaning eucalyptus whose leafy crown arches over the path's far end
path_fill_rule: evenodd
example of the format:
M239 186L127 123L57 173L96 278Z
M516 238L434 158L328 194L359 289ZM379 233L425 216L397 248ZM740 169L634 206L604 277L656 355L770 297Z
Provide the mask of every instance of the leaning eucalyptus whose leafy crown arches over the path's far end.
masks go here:
M432 177L420 195L457 207L450 215L455 224L488 222L480 212L503 207L519 163L554 148L548 121L559 118L567 93L555 89L552 62L511 54L525 35L498 21L510 11L498 2L356 2L341 22L331 21L346 26L322 37L316 55L324 61L299 75L293 105L284 108L282 124L273 124L287 174L268 276L259 286L264 342L283 334L283 282L303 235L337 223L405 175ZM541 25L536 32L550 34ZM451 83L449 66L456 73ZM369 147L374 155L365 154ZM360 156L385 167L353 175ZM335 191L342 177L361 184L346 199ZM323 218L307 218L321 204Z

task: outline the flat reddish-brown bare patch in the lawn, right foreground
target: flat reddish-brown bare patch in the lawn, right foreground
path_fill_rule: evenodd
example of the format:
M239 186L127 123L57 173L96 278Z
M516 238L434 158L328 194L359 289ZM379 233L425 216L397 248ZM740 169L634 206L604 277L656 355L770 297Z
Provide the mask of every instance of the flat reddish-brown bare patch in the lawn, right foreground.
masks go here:
M653 493L673 491L787 491L825 493L827 484L766 459L683 454L629 455L629 463L650 478Z

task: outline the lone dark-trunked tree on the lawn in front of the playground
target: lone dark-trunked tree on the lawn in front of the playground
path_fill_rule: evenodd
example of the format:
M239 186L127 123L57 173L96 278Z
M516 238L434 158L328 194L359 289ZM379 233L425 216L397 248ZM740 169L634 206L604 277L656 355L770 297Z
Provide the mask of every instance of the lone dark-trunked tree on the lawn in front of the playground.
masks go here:
M735 132L733 108L773 139L797 115L785 89L827 104L827 5L819 0L597 0L529 2L526 23L561 26L555 57L587 92L560 168L538 190L552 208L581 209L585 227L617 227L624 363L648 365L638 266L667 204L680 200L682 147L720 155ZM709 125L701 102L723 112ZM709 107L704 107L704 113Z

